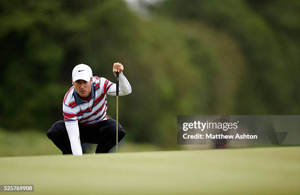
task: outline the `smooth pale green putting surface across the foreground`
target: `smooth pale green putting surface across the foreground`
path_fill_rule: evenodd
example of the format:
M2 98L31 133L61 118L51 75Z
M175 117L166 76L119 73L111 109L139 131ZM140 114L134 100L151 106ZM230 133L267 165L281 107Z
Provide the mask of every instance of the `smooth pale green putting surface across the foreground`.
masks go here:
M28 194L300 194L300 146L1 157L0 184Z

